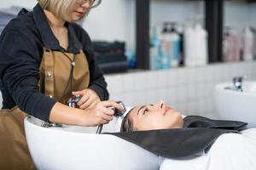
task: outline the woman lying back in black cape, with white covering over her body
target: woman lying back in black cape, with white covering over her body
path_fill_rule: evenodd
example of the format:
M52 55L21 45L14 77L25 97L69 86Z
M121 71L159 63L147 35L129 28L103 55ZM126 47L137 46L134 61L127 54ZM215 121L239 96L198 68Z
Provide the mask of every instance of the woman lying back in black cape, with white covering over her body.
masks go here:
M160 101L136 106L113 133L163 156L161 170L255 170L256 128L246 122L183 116Z

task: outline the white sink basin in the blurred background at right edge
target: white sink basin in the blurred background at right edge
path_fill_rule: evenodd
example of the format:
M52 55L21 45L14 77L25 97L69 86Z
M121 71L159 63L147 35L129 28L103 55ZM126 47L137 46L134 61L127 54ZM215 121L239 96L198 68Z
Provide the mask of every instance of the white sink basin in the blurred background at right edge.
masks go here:
M232 89L232 82L215 86L218 116L225 120L256 122L256 82L243 82L243 91Z

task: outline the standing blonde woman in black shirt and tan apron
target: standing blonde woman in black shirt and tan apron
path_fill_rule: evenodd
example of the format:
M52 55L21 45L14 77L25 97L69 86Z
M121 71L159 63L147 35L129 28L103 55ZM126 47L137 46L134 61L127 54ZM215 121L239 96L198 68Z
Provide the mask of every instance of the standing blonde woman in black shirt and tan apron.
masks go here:
M113 119L107 83L90 37L75 21L99 0L38 0L20 11L0 37L0 169L33 169L26 146L26 114L47 122L96 126ZM80 95L79 108L65 105ZM60 141L61 142L61 141ZM44 146L42 146L44 147Z

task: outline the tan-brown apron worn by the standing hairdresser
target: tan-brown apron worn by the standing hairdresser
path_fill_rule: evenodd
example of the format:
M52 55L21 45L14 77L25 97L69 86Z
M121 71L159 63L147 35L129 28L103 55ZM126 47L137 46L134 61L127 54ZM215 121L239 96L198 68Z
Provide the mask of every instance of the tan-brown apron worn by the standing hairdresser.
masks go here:
M72 63L75 65L72 66ZM38 82L42 93L64 104L72 91L88 88L89 82L89 65L82 50L79 54L70 54L44 48ZM17 106L0 111L1 170L35 169L26 145L25 117L26 113Z

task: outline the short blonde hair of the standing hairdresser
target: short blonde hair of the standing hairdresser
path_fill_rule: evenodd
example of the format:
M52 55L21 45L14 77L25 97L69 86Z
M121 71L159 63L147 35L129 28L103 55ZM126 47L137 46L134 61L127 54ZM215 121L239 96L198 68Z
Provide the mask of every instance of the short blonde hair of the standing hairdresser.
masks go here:
M57 18L65 19L67 10L74 0L38 0L43 9L49 10Z

